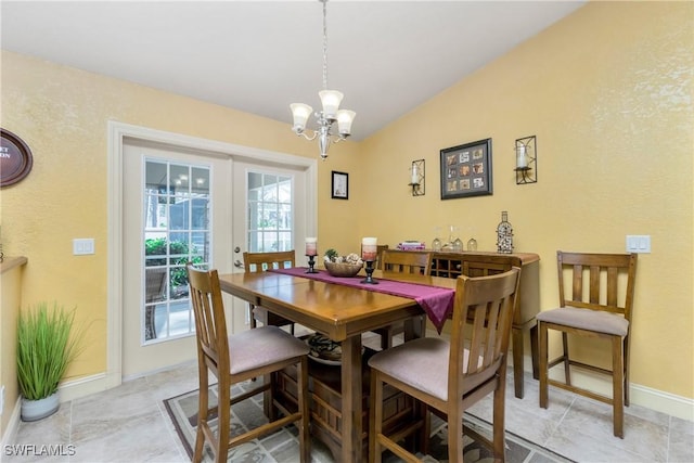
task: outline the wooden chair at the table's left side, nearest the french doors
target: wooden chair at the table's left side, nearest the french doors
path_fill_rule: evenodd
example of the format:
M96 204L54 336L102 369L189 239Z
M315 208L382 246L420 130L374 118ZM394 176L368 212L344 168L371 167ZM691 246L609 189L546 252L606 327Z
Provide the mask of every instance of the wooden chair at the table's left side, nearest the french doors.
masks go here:
M193 461L202 461L205 442L209 443L215 462L227 462L228 452L233 447L296 423L300 461L310 462L308 346L278 326L271 325L228 335L217 270L196 270L191 263L187 265L187 270L195 314L200 374L200 410ZM287 410L272 398L271 382L264 382L236 397L231 397L233 385L257 376L273 376L282 369L294 364L297 365L296 410ZM209 407L209 373L214 374L218 382L217 416L210 415L215 408L210 410ZM245 433L231 435L231 408L261 393L270 397L274 407L282 412L281 417ZM210 424L214 419L217 419L217 429Z

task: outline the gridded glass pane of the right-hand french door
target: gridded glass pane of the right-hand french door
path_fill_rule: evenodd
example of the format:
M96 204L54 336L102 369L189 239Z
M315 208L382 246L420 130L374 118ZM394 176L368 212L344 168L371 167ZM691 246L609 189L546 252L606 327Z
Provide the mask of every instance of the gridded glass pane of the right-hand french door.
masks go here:
M293 177L248 172L248 252L294 248Z

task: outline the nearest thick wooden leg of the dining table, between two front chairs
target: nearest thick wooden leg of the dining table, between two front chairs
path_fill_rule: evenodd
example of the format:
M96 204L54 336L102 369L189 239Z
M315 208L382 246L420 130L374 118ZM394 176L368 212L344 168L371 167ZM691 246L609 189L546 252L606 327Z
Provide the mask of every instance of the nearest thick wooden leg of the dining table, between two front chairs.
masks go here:
M361 435L362 422L362 386L361 386L361 335L343 340L343 453L344 463L362 461Z

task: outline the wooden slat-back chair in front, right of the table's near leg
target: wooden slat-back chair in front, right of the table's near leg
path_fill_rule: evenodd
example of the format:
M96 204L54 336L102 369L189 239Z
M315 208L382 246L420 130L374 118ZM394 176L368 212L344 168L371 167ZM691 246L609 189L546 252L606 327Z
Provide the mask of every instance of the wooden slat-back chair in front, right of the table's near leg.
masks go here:
M455 283L450 342L422 337L383 350L369 360L371 398L369 461L380 463L382 452L390 450L408 462L420 461L401 442L419 433L421 451L428 451L429 412L448 424L448 461L463 461L463 412L493 393L493 439L466 429L476 440L492 448L497 462L503 462L505 382L509 337L520 269L468 278ZM383 433L384 384L420 400L426 412L423 421L408 423L398 432Z

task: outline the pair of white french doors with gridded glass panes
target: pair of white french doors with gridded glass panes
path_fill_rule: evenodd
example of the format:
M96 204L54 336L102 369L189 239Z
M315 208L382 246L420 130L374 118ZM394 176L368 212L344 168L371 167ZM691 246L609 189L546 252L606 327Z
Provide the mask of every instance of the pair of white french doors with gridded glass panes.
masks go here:
M187 261L224 273L243 271L244 250L300 257L314 208L306 166L126 139L123 168L121 371L133 377L196 358ZM230 332L248 327L246 303L224 295L224 307Z

